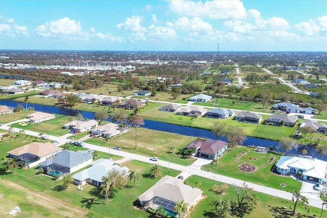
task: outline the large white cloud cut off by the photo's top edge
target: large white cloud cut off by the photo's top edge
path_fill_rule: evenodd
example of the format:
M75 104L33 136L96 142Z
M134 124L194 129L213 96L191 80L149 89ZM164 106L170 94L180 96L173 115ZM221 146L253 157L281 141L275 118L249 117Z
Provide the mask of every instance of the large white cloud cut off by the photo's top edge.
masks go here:
M237 1L205 1L190 0L168 1L174 13L184 16L209 17L212 19L244 18L246 10L243 3Z

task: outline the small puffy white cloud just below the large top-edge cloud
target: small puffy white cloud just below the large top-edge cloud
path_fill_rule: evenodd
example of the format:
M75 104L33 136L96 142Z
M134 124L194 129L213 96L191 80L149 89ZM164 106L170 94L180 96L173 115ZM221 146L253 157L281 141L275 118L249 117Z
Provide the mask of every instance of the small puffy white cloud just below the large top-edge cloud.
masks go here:
M177 29L185 31L213 31L211 24L204 22L199 17L193 17L189 19L188 17L180 17L176 20L174 26Z

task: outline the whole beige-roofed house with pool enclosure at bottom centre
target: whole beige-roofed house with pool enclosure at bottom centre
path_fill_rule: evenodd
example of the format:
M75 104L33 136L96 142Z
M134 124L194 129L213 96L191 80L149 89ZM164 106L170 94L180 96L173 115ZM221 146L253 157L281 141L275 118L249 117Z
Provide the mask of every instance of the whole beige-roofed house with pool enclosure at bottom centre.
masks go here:
M165 210L173 212L176 202L184 201L188 209L195 206L201 199L202 192L198 188L185 185L180 179L167 175L139 195L138 201L145 209L162 206Z

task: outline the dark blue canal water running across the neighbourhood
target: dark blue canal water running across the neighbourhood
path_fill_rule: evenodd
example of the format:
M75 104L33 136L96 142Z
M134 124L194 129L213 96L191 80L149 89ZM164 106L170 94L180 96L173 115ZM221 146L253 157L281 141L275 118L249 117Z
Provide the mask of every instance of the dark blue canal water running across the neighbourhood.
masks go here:
M23 102L15 102L12 101L12 99L8 100L0 100L0 105L7 105L9 107L16 107L18 104L21 104L25 107L25 103ZM87 111L78 111L72 108L66 108L66 107L60 107L60 106L49 106L49 105L41 105L41 104L32 104L28 103L28 107L34 107L35 111L45 112L45 113L52 113L52 114L61 114L61 115L67 115L67 116L76 116L77 113L81 113L84 118L87 119L94 119L95 113L93 112L87 112ZM169 112L167 112L169 113ZM112 121L110 118L106 119L106 121ZM1 117L0 117L1 122ZM180 135L185 136L194 136L194 137L201 137L201 138L211 138L216 139L216 136L212 134L210 130L201 129L201 128L195 128L195 127L189 127L189 126L181 126L177 124L169 124L165 122L160 121L153 121L153 120L144 120L144 125L142 127L153 129L153 130L159 130L169 133L176 133ZM250 124L249 124L250 125ZM221 140L226 140L226 138L222 137ZM253 137L246 137L246 140L243 142L243 145L254 145L254 146L263 146L263 147L269 147L274 146L276 147L278 145L277 141L269 140L269 139L258 139ZM301 154L301 150L303 148L306 148L308 150L307 155L310 155L312 157L316 157L320 159L320 156L315 154L314 148L310 148L309 146L303 146L299 145L297 149L292 149L290 151L290 154L299 155ZM325 155L323 157L323 160L327 161L327 156Z

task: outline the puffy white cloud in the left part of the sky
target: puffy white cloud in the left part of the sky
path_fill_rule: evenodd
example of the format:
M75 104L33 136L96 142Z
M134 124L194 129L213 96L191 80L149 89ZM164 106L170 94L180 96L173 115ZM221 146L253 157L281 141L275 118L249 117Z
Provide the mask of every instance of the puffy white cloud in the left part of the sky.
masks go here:
M81 29L80 21L64 17L36 27L35 32L41 36L52 36L56 34L73 35L80 33Z

